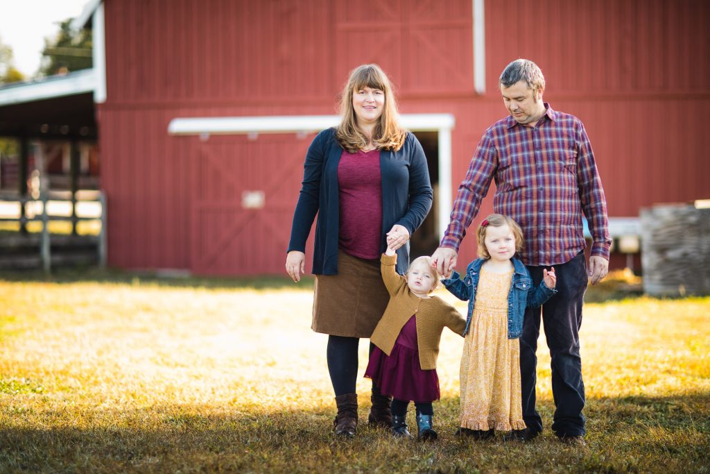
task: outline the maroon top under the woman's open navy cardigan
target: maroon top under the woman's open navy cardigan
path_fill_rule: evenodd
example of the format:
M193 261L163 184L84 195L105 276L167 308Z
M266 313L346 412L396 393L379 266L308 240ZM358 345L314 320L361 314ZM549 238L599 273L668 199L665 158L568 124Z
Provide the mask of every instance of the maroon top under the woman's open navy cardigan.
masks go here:
M339 247L361 259L379 259L382 240L380 151L343 151L338 166Z

